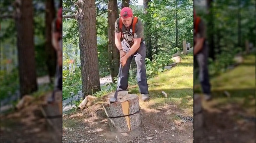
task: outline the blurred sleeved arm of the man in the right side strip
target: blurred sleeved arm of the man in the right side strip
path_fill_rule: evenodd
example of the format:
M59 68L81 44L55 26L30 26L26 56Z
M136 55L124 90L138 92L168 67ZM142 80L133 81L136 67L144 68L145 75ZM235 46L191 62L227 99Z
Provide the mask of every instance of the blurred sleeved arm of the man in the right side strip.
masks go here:
M197 55L199 51L201 51L203 49L203 43L205 40L205 26L203 21L200 22L200 24L198 25L198 35L199 37L194 37L195 41L196 41L196 45L194 45L194 55Z

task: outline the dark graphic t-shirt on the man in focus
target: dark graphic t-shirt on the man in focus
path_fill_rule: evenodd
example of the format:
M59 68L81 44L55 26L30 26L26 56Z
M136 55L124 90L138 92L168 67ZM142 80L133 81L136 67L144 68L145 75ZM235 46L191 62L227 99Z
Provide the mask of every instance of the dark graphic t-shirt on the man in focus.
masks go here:
M133 31L132 31L133 27L132 24L130 27L125 27L124 25L122 26L122 35L123 35L123 40L121 41L121 45L122 48L124 50L124 52L128 53L134 43L133 39L135 38L141 38L141 42L144 42L144 26L143 23L141 22L141 20L139 20L135 25L135 32L133 35ZM116 22L115 22L115 32L119 33L120 28L119 28L119 18L117 18Z

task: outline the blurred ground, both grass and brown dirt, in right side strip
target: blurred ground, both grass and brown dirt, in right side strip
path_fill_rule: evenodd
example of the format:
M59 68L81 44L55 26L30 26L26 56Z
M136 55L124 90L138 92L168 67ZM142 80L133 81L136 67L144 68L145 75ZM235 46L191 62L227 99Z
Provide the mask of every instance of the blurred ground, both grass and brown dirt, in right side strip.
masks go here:
M256 142L255 55L212 78L211 85L213 100L203 102L205 124L195 130L195 142Z

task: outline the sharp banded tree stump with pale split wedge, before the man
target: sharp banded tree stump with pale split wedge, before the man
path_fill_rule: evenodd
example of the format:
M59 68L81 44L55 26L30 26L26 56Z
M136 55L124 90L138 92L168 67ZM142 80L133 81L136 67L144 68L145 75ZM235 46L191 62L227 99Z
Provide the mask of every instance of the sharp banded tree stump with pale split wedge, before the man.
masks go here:
M119 91L117 102L110 103L109 99L115 93L107 96L107 102L102 103L111 131L118 133L129 132L140 125L139 97L136 94L129 94L127 91Z

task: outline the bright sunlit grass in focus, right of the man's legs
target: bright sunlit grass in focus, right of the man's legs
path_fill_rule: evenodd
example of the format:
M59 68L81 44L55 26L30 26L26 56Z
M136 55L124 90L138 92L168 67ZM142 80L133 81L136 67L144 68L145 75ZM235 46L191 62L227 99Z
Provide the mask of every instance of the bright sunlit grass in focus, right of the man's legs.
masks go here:
M165 104L172 104L185 115L193 116L193 56L182 57L181 63L149 79L148 85L151 100L141 103L141 106L156 109ZM161 91L168 97L165 98ZM138 85L128 87L128 92L139 95Z

